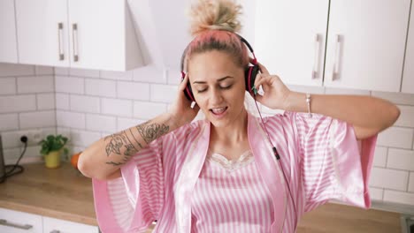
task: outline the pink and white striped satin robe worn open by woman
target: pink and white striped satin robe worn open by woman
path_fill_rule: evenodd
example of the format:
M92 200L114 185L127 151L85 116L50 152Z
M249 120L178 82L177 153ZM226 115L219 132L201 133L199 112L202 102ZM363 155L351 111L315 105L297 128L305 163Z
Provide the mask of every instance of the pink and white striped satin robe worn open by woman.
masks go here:
M371 207L368 181L377 135L357 141L350 124L327 116L313 114L310 118L305 113L288 111L266 117L265 124L280 153L280 164L272 154L261 124L249 115L248 137L260 174L258 187L263 189L265 185L268 191L265 197L272 203L267 208L271 216L261 216L269 220L263 232L293 232L303 213L329 199ZM200 195L192 197L199 192L196 184L207 155L210 126L206 120L182 126L135 154L121 168L122 177L111 181L93 179L97 221L102 231L144 232L154 220L157 220L154 232L201 231L192 222L207 220L195 220L197 211L201 211L200 201L196 202ZM263 198L262 195L260 199ZM198 208L192 210L192 203ZM210 207L212 204L217 203L211 203ZM241 207L247 208L246 205L251 207L251 202L240 203ZM204 224L214 227L218 222Z

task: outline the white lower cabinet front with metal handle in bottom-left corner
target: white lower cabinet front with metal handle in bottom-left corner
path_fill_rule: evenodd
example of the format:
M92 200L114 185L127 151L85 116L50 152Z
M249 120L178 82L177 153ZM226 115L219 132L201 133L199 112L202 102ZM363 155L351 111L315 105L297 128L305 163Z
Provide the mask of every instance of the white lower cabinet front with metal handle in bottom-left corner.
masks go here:
M43 233L42 216L0 208L0 232Z

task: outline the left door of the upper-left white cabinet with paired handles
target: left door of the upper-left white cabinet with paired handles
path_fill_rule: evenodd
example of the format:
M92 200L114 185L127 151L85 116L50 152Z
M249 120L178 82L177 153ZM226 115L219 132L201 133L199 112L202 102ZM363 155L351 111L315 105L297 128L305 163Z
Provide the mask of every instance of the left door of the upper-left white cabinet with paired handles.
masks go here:
M69 65L66 0L16 0L20 64Z

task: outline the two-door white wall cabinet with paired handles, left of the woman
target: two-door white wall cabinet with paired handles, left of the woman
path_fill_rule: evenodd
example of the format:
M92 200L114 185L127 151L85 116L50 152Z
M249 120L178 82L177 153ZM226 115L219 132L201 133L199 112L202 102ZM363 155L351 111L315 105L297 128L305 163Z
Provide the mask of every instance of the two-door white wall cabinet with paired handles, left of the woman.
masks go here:
M20 64L126 71L143 65L126 0L16 0Z

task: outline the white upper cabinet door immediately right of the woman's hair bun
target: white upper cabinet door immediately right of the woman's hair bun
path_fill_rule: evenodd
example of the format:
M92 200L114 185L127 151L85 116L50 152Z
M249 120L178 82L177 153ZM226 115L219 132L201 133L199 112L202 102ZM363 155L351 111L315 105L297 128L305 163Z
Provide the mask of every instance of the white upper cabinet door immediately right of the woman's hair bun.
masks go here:
M286 84L321 86L328 0L257 1L254 49Z

